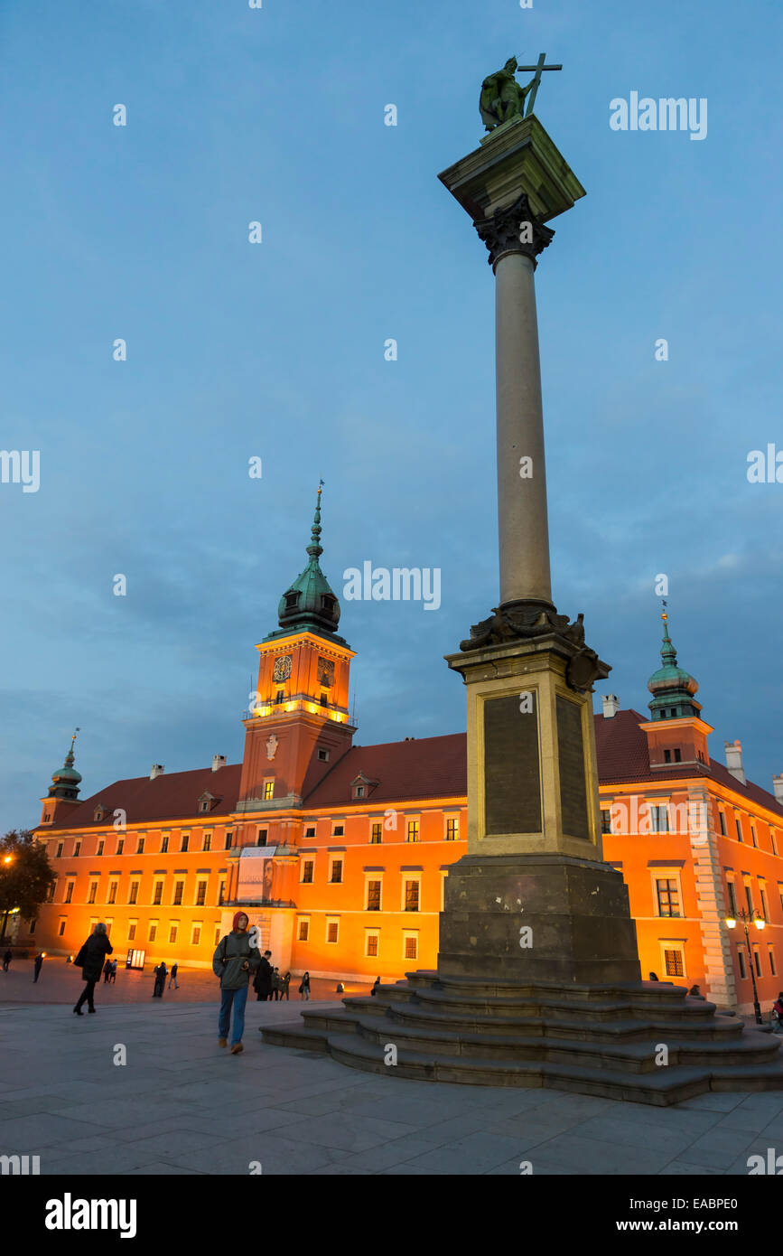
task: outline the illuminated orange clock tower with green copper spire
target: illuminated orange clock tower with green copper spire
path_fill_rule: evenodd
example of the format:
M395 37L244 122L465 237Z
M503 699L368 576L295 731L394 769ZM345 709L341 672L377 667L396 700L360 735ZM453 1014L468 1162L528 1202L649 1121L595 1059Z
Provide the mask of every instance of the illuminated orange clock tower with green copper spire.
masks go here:
M280 599L279 628L256 647L261 659L245 720L240 811L300 808L356 731L348 718L354 651L336 632L340 604L319 564L320 536L319 486L307 565Z

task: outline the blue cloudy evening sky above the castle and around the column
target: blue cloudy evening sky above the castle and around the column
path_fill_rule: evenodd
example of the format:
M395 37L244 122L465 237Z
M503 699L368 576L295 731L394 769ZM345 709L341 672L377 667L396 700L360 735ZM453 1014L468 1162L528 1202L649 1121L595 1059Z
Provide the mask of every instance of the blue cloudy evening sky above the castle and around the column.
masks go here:
M644 712L665 573L713 756L740 737L770 788L783 484L745 472L783 448L782 26L773 0L8 0L0 447L40 451L40 489L0 484L3 831L74 725L83 796L241 757L320 476L338 594L365 560L442 570L438 612L343 602L356 741L464 727L442 656L497 600L493 280L437 173L482 78L542 49L587 188L537 271L555 600ZM610 129L632 90L706 97L706 138Z

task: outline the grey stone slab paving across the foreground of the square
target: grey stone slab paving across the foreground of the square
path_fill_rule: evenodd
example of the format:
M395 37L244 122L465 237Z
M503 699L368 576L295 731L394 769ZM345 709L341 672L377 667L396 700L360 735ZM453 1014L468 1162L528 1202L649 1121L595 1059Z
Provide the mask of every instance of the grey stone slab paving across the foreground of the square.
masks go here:
M378 1076L262 1042L292 1011L248 1002L232 1056L216 1001L0 1009L0 1154L38 1154L43 1174L720 1176L783 1153L783 1094L650 1108Z

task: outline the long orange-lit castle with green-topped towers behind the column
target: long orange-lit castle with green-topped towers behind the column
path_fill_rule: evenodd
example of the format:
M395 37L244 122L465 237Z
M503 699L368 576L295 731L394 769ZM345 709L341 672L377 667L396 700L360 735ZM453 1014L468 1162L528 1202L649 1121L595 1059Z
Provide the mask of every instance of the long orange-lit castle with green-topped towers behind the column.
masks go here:
M79 799L74 746L36 836L56 884L18 941L75 953L99 919L120 962L211 967L243 907L282 971L349 982L434 967L448 868L466 853L466 735L354 744L354 652L320 566L320 490L305 570L257 646L240 764L117 780ZM665 617L664 617L665 619ZM650 713L595 717L605 858L622 872L642 975L749 1011L783 986L783 776L709 754L696 681L664 624ZM727 927L742 912L763 927Z

